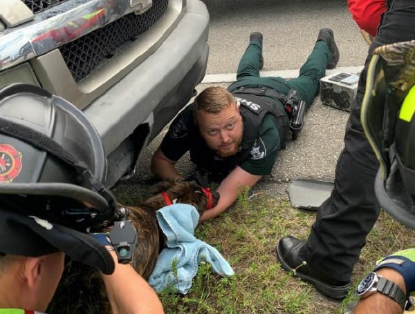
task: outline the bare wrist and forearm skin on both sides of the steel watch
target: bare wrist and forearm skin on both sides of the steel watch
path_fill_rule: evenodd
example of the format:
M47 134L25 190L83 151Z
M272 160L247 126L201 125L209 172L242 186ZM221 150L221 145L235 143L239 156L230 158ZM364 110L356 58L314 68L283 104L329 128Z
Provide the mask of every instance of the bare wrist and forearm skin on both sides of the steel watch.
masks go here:
M391 268L380 268L376 271L378 275L381 275L395 284L397 284L404 293L405 291L405 281L397 271L394 271ZM382 293L374 293L369 297L360 300L358 306L356 306L353 314L367 314L367 313L376 313L376 314L401 314L403 309L398 303L392 300Z

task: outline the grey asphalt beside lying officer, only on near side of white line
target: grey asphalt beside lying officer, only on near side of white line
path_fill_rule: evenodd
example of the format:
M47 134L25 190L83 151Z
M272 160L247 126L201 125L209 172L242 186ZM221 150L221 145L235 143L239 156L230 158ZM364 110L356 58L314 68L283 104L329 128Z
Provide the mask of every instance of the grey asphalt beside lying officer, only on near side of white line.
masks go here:
M227 83L200 84L198 90L208 86L228 86ZM333 181L335 164L343 148L344 128L349 112L323 105L317 97L306 113L304 127L294 141L288 140L285 150L281 150L275 161L271 175L263 177L251 193L262 193L288 199L286 188L293 179L311 178ZM149 162L167 128L147 146L140 158L140 168L134 181L145 186L154 183L149 172ZM178 164L178 169L185 175L194 171L188 155Z

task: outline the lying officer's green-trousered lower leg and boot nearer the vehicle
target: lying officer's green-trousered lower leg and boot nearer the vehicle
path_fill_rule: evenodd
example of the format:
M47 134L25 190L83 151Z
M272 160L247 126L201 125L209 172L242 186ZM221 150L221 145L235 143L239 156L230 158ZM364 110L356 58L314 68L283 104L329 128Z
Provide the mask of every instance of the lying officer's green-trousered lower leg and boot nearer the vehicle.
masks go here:
M237 70L237 80L244 77L259 77L264 63L262 58L262 34L260 32L252 32L249 37L249 45L246 48Z

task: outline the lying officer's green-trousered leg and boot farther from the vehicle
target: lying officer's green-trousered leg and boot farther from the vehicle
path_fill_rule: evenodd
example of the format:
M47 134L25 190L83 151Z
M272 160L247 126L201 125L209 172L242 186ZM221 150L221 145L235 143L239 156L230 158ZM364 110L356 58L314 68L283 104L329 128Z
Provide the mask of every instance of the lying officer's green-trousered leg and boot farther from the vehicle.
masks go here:
M306 63L299 69L299 76L288 81L288 86L297 90L300 99L306 101L307 109L319 92L320 79L326 75L326 68L329 68L329 64L334 68L338 60L339 52L333 31L323 28Z

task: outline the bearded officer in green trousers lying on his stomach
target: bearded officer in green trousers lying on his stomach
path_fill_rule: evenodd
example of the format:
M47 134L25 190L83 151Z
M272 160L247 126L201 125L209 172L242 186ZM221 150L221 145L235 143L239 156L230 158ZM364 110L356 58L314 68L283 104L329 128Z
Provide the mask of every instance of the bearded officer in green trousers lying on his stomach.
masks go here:
M326 68L335 68L339 60L333 31L323 28L299 77L260 77L262 39L260 32L252 32L237 81L228 90L203 90L172 121L151 159L157 177L183 180L175 164L189 151L199 170L220 179L219 202L203 213L201 222L221 214L238 193L270 175L278 151L285 148L290 121L311 106Z

